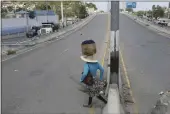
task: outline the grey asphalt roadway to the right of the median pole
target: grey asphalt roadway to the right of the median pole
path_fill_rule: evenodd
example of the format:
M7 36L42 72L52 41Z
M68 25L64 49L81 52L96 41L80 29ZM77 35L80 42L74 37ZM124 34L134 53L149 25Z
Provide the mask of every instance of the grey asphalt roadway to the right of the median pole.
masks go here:
M136 107L146 113L160 91L170 90L170 38L121 14L119 44Z

